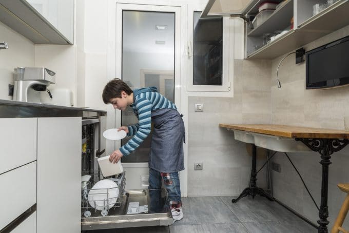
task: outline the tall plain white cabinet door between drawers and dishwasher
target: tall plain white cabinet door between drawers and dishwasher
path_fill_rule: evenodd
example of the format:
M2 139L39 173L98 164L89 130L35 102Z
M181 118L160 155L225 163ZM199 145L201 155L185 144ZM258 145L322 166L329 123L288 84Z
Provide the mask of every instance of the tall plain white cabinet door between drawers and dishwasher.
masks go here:
M37 232L81 232L81 118L37 119Z

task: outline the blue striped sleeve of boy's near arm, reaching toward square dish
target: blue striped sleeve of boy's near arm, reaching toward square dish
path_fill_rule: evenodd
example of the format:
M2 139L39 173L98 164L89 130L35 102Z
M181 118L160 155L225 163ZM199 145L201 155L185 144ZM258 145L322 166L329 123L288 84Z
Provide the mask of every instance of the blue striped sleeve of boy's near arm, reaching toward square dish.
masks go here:
M120 148L124 156L139 147L151 130L151 102L145 98L140 98L136 102L136 109L138 111L139 129L133 138Z

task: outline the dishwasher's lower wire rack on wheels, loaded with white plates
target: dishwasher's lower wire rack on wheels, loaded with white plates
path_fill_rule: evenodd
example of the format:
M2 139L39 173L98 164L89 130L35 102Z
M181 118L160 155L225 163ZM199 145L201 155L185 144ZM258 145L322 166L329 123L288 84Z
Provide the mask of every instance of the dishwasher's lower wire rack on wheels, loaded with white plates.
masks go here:
M90 181L82 182L81 216L85 218L89 218L92 215L107 216L110 209L118 208L122 204L125 194L125 171L118 176L109 178L104 178L100 171L95 171L91 178ZM105 179L114 182L115 186L112 188L92 189L93 185Z

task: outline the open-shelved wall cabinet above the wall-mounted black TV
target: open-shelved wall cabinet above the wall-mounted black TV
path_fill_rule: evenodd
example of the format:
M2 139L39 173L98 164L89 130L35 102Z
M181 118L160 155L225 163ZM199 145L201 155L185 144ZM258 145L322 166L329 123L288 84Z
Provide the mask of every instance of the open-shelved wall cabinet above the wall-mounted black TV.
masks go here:
M215 0L209 0L207 7L213 6L212 2ZM240 15L246 19L246 59L275 59L349 25L349 17L345 17L349 12L349 0L277 0L273 1L279 3L277 9L258 25L253 24L253 18L259 13L258 8L263 2L266 1L244 1L246 7L240 13L220 14ZM316 4L320 9L313 13ZM201 17L212 16L209 10L205 9L204 12L206 15Z

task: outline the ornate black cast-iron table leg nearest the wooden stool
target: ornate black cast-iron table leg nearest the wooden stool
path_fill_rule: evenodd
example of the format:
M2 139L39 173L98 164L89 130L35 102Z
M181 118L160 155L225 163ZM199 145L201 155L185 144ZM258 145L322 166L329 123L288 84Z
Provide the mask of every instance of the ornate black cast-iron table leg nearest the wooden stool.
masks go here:
M296 138L296 141L301 141L311 150L321 154L322 178L321 178L321 204L319 209L318 232L327 233L328 218L328 165L331 164L331 154L343 149L348 143L349 139L303 139Z

